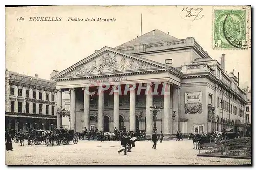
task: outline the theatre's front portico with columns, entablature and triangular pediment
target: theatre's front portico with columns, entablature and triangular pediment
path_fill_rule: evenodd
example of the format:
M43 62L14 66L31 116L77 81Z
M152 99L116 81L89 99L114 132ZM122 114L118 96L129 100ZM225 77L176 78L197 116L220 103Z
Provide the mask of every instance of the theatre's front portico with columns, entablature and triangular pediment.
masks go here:
M179 118L177 88L181 86L182 76L173 67L104 47L53 79L57 82L58 108L62 107L62 92L70 91L70 129L77 132L84 127L90 129L90 117L94 116L99 131L107 124L113 131L115 127L122 127L119 120L123 116L123 125L127 125L128 131L135 131L139 121L140 130L152 134L150 106L157 103L164 108L161 115L157 115L157 122L161 120L157 132L162 129L169 135L173 110L178 113L175 121ZM105 119L110 122L105 123ZM57 122L59 127L60 116ZM177 125L174 129L178 130L178 123L174 124Z

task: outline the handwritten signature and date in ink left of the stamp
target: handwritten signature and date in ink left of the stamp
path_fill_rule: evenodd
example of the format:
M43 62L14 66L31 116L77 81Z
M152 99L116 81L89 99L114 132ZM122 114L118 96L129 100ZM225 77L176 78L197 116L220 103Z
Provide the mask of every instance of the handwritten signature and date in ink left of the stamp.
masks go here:
M203 11L203 8L188 8L188 7L186 7L181 10L181 17L182 18L185 17L189 20L191 19L192 21L199 20L204 17L204 15L201 14L202 11Z

